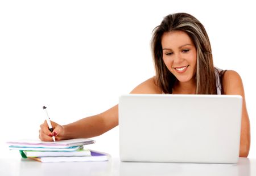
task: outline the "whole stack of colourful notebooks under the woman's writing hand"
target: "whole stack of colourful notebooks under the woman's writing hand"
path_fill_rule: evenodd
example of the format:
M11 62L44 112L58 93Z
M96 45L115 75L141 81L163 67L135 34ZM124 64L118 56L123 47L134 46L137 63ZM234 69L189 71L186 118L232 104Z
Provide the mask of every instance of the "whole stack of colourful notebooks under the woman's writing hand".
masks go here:
M69 139L56 142L40 140L9 141L9 149L18 150L23 158L40 162L107 161L108 154L90 151L84 145L95 143L92 139Z

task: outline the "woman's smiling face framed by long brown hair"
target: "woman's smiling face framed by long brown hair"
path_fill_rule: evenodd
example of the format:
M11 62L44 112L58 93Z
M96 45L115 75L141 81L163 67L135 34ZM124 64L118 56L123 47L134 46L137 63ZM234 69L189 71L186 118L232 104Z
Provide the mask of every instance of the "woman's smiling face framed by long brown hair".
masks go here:
M181 82L190 81L196 72L196 47L183 31L165 32L162 36L163 61Z

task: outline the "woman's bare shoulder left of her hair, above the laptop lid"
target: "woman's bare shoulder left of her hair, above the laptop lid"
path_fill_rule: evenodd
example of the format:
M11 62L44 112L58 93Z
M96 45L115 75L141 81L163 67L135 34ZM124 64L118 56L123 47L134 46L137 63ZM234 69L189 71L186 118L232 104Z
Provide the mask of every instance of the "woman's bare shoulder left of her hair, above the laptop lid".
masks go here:
M131 93L160 94L162 93L162 90L156 84L155 76L153 76L152 78L147 79L143 83L137 85L137 87L135 87Z

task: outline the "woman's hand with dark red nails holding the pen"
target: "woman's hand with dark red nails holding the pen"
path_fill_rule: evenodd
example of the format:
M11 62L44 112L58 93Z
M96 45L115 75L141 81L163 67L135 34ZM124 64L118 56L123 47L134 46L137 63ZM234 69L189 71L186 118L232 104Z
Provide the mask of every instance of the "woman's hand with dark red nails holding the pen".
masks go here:
M42 141L53 141L52 136L55 136L55 140L63 140L64 139L64 127L52 122L52 127L53 131L49 131L47 122L44 121L42 125L40 125L40 130L39 130L39 139Z

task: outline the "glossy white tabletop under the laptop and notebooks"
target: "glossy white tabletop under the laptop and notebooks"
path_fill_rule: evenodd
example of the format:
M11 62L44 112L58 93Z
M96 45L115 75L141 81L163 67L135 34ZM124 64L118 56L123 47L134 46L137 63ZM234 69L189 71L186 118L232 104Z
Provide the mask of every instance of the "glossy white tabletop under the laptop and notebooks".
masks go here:
M188 164L161 162L41 163L29 159L0 159L0 175L256 175L256 159L240 158L238 164Z

